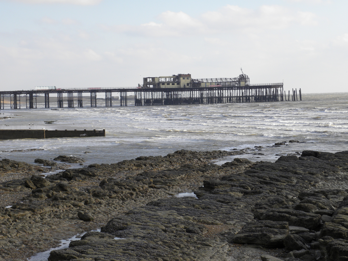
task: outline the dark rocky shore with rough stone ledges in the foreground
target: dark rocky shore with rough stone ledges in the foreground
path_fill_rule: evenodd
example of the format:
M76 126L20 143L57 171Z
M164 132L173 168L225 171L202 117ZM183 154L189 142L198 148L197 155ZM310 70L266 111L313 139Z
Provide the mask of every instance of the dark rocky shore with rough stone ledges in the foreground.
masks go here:
M22 198L0 208L0 260L97 228L48 260L348 260L348 152L211 163L244 153L180 150L46 177L4 159L0 177L18 176L1 198ZM197 198L173 196L190 191Z

